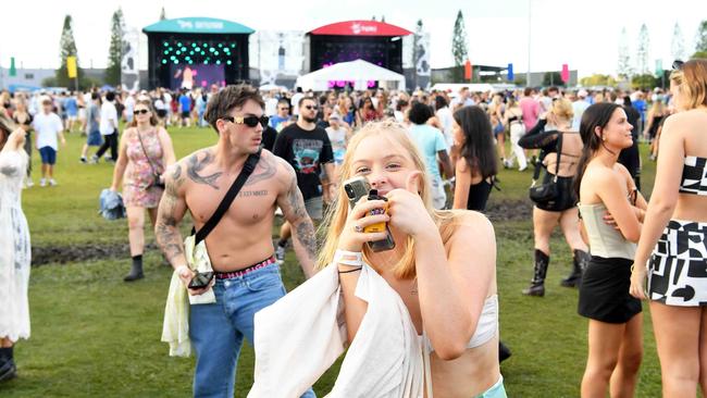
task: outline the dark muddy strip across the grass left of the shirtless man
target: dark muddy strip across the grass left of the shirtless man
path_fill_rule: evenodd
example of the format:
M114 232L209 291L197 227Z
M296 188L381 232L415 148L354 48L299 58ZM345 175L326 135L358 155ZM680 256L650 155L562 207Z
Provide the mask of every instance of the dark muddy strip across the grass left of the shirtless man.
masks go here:
M157 250L154 244L145 246L145 250ZM74 245L74 246L39 246L32 248L32 265L39 266L49 263L65 264L89 260L131 257L131 248L124 245Z

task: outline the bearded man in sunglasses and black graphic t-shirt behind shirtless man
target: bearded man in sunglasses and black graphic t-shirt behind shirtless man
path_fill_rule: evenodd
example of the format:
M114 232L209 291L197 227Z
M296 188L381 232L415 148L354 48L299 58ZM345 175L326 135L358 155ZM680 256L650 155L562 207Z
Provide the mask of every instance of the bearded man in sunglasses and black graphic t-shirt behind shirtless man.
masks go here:
M331 189L335 184L322 186L320 175L322 165L326 177L332 182L334 176L334 153L326 130L317 126L317 101L302 97L298 103L299 116L296 124L283 128L275 139L273 153L285 159L297 173L297 186L305 198L307 213L317 222L323 216L323 189ZM285 260L285 247L289 239L290 227L287 222L280 229L280 241L275 249L275 258L281 263Z

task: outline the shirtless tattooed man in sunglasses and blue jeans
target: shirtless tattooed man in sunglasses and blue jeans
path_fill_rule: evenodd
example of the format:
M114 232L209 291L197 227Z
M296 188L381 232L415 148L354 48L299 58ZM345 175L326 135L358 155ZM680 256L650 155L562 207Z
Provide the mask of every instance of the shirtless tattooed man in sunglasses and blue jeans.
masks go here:
M215 146L194 152L165 173L166 188L156 224L158 242L185 288L194 277L186 266L178 224L187 209L197 231L211 217L249 154L262 140L264 102L247 85L228 86L209 101L204 119L219 133ZM305 210L293 167L263 150L260 161L221 222L206 239L216 302L194 304L189 337L197 353L195 397L233 397L244 337L253 341L253 315L285 295L274 260L272 228L278 206L293 225L295 252L305 275L313 274L314 226ZM264 259L264 260L263 260ZM303 397L313 397L311 389Z

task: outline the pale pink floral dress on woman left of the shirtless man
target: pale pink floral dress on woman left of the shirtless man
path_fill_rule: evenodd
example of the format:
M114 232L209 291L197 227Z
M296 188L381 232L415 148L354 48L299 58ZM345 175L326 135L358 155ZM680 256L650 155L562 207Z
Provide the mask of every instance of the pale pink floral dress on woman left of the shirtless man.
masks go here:
M123 179L123 201L126 208L153 209L160 204L163 189L156 186L156 176L164 173L163 151L157 127L138 132L125 130L127 169ZM139 134L139 136L138 136ZM140 138L142 142L140 144ZM142 146L145 150L142 150ZM147 153L149 159L145 156Z

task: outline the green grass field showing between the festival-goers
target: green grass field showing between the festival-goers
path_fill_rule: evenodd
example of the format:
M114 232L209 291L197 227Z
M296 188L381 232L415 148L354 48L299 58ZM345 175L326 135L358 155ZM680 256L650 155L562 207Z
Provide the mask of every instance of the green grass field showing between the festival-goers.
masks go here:
M211 145L209 129L172 129L177 157ZM111 182L112 166L84 165L78 153L84 138L69 136L59 152L58 187L24 191L33 246L66 249L124 247L124 220L107 222L97 214L98 194ZM646 152L646 148L642 148ZM34 159L38 165L37 154ZM655 164L644 162L644 192L649 194ZM35 171L35 182L38 173ZM501 191L491 206L528 204L531 171L503 171ZM648 196L648 195L646 195ZM521 202L524 200L525 202ZM513 356L501 366L510 397L578 397L586 360L586 320L576 314L575 289L559 286L570 270L571 252L562 237L553 238L545 298L520 294L532 275L532 222L529 217L494 220L498 242L498 291L503 340ZM153 237L148 233L148 241ZM288 254L283 278L288 289L303 277ZM156 250L146 252L146 278L125 284L129 258L111 257L33 269L29 300L32 338L15 349L20 377L0 385L2 397L185 397L190 395L194 359L168 356L160 343L164 299L171 270ZM660 395L660 369L650 318L645 307L645 356L638 397ZM252 383L253 355L245 347L238 366L236 396ZM325 395L336 366L314 386Z

